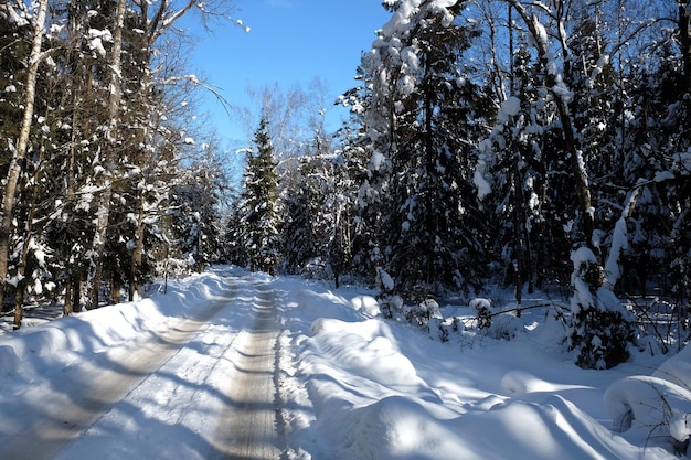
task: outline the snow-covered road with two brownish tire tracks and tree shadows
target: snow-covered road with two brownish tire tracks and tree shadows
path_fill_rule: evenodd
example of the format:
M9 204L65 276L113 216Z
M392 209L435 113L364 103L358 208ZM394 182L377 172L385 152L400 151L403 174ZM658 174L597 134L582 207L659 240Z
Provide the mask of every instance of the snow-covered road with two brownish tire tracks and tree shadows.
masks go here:
M182 317L125 318L119 342L75 328L62 368L3 398L0 457L278 459L273 292L241 280L222 292Z

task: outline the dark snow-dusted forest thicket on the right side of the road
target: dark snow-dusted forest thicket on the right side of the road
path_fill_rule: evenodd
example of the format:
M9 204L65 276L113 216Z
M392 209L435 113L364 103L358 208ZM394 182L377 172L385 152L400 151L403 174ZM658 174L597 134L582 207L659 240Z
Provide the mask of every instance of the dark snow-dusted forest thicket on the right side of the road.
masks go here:
M284 267L413 303L570 285L578 364L626 360L616 296L690 295L689 2L383 6L338 148L284 175Z

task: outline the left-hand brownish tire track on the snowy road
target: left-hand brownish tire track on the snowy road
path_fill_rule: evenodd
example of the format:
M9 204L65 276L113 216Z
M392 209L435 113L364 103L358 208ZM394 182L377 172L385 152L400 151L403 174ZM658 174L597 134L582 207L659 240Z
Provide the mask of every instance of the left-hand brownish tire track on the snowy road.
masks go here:
M195 318L182 318L168 329L151 333L143 343L114 347L96 355L94 362L65 368L50 388L29 387L21 395L23 404L3 407L2 417L11 419L12 413L24 410L36 416L29 426L15 427L13 436L2 440L0 458L40 460L55 456L152 371L170 361L226 304L227 301L214 302ZM42 394L46 391L53 393L47 400ZM34 400L40 400L41 406L32 407Z

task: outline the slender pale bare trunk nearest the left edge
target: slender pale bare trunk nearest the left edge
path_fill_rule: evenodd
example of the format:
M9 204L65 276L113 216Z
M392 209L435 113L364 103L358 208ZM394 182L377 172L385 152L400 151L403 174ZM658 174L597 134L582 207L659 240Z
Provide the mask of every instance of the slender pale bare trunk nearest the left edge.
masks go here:
M31 122L33 120L34 101L36 97L36 75L39 74L39 64L43 57L41 46L43 44L47 0L41 0L39 3L39 11L33 23L33 42L31 54L29 55L29 69L26 73L24 116L22 118L22 127L19 133L17 148L12 152L12 159L10 160L10 168L8 170L4 186L4 196L2 197L2 211L0 211L0 307L4 303L6 278L9 269L8 258L10 253L10 235L14 217L17 185L19 183L24 158L26 157L26 150L29 148L29 135L31 132Z

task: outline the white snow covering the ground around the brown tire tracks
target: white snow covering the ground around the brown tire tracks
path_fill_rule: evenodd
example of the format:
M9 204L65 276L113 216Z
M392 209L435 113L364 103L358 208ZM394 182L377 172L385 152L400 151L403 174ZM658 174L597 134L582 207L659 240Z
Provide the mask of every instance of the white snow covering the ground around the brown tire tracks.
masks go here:
M233 342L267 288L281 330L274 378L281 458L674 459L670 434L687 436L685 353L670 362L678 373L661 365L667 356L638 350L614 370L583 371L560 345L566 331L548 309L510 317L519 328L507 341L474 328L470 306L439 302L439 315L458 321L442 342L437 328L449 321L433 319L427 332L383 319L374 293L361 287L214 267L172 282L168 293L1 335L0 442L22 432L44 436L26 430L42 417L60 421L56 408L68 406L73 392L120 374L132 378L124 357L189 320L202 324L192 346L137 376L146 384L93 425L74 427L76 438L50 458L210 458L213 416L223 405L217 388L236 359ZM209 306L215 313L204 313ZM676 382L665 381L672 374ZM650 382L669 392L687 388L669 398L678 410L668 420L649 404ZM646 428L650 422L668 426Z

